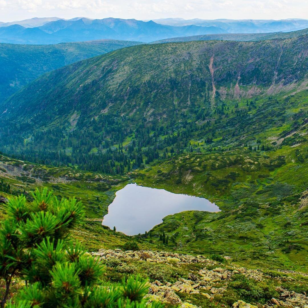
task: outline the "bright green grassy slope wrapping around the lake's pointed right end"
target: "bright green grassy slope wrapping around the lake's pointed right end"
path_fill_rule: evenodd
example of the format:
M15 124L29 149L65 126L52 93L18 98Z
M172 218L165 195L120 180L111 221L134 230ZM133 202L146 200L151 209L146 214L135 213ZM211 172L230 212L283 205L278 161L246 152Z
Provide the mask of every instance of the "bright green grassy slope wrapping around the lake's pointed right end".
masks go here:
M245 265L306 271L308 209L299 207L308 183L308 95L303 91L282 102L285 115L280 117L276 103L259 102L263 116L251 117L251 126L240 136L241 147L229 150L232 141L228 145L217 138L211 147L220 151L204 152L202 148L209 146L200 143L201 153L187 152L133 174L138 184L205 197L222 210L168 216L153 233L173 235L176 246L190 253L227 253ZM272 123L264 118L270 110ZM296 118L298 111L302 121L297 128L292 129L292 122L281 122L286 115ZM200 141L196 137L192 144ZM257 139L276 144L275 150L253 151L244 146L247 140L254 148Z

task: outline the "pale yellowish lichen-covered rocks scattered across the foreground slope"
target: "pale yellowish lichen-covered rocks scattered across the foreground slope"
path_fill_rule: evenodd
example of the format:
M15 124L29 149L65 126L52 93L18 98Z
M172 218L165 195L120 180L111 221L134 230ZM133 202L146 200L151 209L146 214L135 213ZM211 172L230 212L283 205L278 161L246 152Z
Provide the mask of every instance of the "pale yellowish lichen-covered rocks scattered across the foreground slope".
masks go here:
M169 265L193 264L201 263L204 268L198 272L188 274L188 279L180 278L175 283L162 283L158 280L149 283L149 291L147 298L149 302L160 301L169 305L184 307L198 307L189 301L183 302L178 294L199 294L205 296L209 301L214 301L217 297L224 296L224 292L228 288L229 282L232 281L234 274L242 274L247 278L256 281L263 281L269 278L261 269L246 269L238 267L234 264L223 264L217 261L210 260L202 255L192 256L181 253L156 252L149 250L140 251L122 251L121 249L107 250L99 249L98 252L92 252L93 256L99 257L100 260L109 258L117 259L133 259L146 262L156 262ZM228 257L225 257L228 259ZM281 271L281 273L291 274L292 271ZM302 273L301 273L302 274ZM302 274L308 276L307 274ZM280 278L277 278L278 280ZM284 278L288 281L294 281L294 278L287 276ZM279 298L272 298L265 304L246 303L238 300L233 303L234 308L268 308L268 307L294 307L308 308L308 297L306 294L289 291L282 287L277 287L276 291L280 294ZM305 292L304 292L305 293ZM201 307L201 306L200 306Z

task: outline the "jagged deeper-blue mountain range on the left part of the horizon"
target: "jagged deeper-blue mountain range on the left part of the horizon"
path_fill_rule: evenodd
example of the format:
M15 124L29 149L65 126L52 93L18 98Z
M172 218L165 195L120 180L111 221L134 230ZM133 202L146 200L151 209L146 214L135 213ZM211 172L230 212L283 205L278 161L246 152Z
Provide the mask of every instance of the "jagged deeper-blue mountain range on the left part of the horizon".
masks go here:
M0 42L13 44L56 44L63 42L117 39L152 42L178 36L227 33L215 26L169 26L136 19L58 19L42 26L29 27L44 20L23 21L0 27ZM26 26L28 25L28 26Z

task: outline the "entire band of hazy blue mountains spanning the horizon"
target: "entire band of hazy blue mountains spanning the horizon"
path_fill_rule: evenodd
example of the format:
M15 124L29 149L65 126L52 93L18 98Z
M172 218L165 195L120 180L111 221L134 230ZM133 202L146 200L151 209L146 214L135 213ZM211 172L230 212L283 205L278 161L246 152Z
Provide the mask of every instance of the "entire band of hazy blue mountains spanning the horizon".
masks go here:
M306 19L185 20L182 18L166 18L140 21L120 18L90 19L76 17L63 19L48 17L0 22L0 43L57 44L98 39L149 43L196 35L243 33L245 35L237 36L236 39L233 39L232 35L222 35L220 39L250 41L263 39L263 33L290 32L305 28L308 28L308 20ZM252 37L248 35L255 33L258 35ZM217 39L215 35L213 39Z

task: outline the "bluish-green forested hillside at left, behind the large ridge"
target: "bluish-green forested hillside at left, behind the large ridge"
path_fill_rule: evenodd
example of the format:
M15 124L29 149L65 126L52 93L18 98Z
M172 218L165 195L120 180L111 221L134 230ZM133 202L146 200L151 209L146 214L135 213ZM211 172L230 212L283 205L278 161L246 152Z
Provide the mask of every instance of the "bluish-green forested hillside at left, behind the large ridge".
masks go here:
M100 40L57 45L0 44L0 102L43 73L139 42Z

